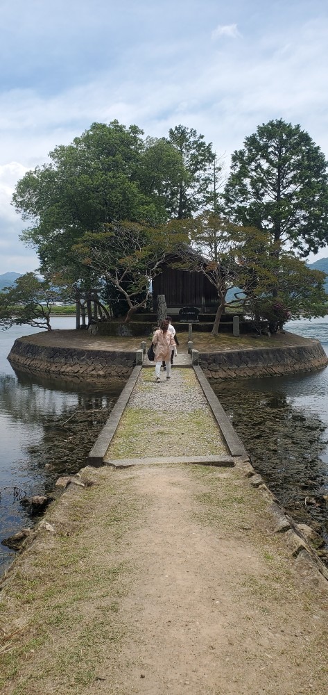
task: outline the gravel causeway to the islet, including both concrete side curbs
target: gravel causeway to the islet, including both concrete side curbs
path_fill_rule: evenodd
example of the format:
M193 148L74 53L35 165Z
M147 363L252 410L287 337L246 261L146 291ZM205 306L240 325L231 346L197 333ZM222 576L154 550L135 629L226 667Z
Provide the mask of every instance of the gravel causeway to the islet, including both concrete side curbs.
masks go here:
M180 365L181 361L181 365ZM178 362L178 364L177 364ZM171 379L145 359L137 366L89 454L92 465L186 463L232 466L247 454L214 391L189 355L180 356ZM189 367L189 368L186 368Z

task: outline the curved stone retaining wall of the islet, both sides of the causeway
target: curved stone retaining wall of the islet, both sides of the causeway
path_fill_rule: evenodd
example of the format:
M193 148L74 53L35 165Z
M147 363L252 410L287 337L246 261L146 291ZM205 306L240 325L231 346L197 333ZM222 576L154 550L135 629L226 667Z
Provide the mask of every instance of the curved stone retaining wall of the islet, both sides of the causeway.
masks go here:
M136 353L35 345L18 338L8 359L12 366L38 374L126 381L135 366ZM308 338L304 345L200 352L198 363L209 381L221 381L309 372L325 367L328 358L321 343Z

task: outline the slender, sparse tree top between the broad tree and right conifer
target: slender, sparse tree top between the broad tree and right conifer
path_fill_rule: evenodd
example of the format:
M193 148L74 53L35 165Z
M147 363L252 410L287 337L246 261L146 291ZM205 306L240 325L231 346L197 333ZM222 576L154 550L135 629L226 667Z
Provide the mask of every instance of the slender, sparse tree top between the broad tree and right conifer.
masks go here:
M214 181L217 184L221 165L216 161L212 142L207 144L203 135L182 125L170 129L169 142L183 163L180 179L172 182L167 197L170 216L183 220L205 207L213 208Z

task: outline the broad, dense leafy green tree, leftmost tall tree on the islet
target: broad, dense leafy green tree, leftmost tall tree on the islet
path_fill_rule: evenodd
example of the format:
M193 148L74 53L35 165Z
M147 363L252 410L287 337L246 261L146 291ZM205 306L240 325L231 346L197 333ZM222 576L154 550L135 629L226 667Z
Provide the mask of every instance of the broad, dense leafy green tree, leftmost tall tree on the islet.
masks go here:
M22 238L36 247L42 271L71 265L74 275L72 245L102 224L166 219L164 190L170 177L178 179L181 158L168 143L145 142L142 135L137 126L117 121L94 123L17 183L13 204L31 221Z

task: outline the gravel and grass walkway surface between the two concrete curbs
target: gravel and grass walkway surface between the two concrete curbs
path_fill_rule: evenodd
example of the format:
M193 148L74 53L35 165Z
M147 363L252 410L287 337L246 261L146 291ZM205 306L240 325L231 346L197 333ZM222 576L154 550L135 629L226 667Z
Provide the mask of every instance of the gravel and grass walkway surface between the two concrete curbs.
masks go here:
M162 377L163 378L163 377ZM174 368L155 383L143 369L106 459L227 454L221 430L192 369Z

